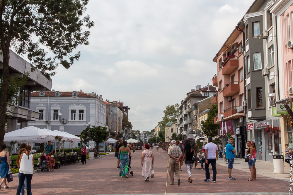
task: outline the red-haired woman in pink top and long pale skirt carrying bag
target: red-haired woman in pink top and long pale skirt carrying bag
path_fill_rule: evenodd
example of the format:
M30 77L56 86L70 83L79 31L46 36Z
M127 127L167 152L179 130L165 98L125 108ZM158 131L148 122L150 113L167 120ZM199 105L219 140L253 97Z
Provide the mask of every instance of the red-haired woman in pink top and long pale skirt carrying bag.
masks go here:
M154 165L154 154L150 151L150 145L144 144L144 151L142 151L142 177L144 181L149 181L149 176L151 175L151 166Z

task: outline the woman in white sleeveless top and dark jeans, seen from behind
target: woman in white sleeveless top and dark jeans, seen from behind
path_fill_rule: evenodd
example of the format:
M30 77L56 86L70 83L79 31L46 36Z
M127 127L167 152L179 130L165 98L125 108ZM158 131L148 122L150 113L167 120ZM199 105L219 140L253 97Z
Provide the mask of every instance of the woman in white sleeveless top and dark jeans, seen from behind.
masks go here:
M18 188L16 191L16 195L19 195L21 193L21 188L23 186L24 179L26 177L26 185L27 185L27 194L30 194L31 192L31 182L33 178L33 171L34 171L34 163L35 158L33 154L30 153L31 151L30 145L25 146L25 153L19 153L20 158L20 167L19 167L19 180L18 180Z

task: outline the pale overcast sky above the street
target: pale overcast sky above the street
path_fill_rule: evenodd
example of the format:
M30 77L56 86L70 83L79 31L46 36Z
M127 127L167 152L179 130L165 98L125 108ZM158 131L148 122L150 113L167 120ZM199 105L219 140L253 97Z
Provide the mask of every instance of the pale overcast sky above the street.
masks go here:
M212 59L252 2L90 0L90 44L69 70L58 68L52 89L120 100L133 129L150 131L166 106L212 84Z

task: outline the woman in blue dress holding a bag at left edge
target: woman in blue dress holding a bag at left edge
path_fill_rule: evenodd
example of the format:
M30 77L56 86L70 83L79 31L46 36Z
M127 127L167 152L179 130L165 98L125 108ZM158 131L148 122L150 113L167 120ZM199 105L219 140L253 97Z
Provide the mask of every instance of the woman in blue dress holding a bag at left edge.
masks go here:
M1 183L0 183L0 190L1 190L1 185L4 183L4 189L9 188L6 184L6 179L7 179L7 173L8 170L11 169L10 163L8 163L9 161L9 152L6 151L6 145L3 144L2 145L2 152L0 152L0 159L1 159L1 163L0 163L0 177L2 179Z

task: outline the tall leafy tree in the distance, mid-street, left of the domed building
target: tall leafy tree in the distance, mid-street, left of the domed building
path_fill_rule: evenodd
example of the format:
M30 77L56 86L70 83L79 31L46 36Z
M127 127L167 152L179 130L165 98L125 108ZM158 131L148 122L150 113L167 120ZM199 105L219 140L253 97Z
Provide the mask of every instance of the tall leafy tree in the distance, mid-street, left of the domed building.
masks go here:
M166 106L166 109L163 111L163 113L164 113L164 116L162 117L163 120L158 122L158 125L160 126L160 129L161 129L162 134L164 135L164 137L165 137L165 126L166 126L166 124L168 122L177 121L178 108L179 108L179 104L176 103L176 104L171 105L171 106Z

